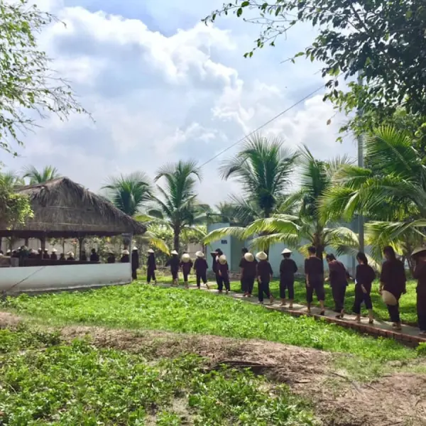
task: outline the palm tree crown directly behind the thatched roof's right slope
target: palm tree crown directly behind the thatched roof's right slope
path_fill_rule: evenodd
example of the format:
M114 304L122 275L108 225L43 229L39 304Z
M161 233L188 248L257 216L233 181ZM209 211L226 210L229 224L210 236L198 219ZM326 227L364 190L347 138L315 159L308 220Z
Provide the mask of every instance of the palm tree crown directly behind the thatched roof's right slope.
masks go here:
M153 200L151 182L148 176L141 172L113 176L102 189L107 190L111 202L129 216L134 216L140 212L141 207Z

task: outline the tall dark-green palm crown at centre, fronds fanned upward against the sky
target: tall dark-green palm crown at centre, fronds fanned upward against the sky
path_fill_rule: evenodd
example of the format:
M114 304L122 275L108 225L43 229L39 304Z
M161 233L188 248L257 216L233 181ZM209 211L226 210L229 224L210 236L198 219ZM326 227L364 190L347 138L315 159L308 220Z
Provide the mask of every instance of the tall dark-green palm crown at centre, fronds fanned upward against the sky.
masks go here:
M297 153L284 148L280 138L268 139L255 134L242 151L226 160L220 168L222 178L236 178L244 192L243 201L234 197L241 222L254 217L270 217L290 186Z

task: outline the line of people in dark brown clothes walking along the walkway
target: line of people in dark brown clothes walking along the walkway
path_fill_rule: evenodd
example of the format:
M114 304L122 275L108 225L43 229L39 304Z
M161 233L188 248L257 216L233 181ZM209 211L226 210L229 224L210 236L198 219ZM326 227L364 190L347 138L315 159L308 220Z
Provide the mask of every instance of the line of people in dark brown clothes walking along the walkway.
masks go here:
M332 297L334 299L334 308L337 318L344 317L344 299L346 288L351 276L346 270L344 264L337 260L333 254L327 254L326 260L329 267L329 277L324 278L324 263L321 258L317 257L314 246L308 249L309 256L305 259L305 287L307 312L311 312L311 306L314 294L320 302L320 313L324 315L324 282L329 282L332 288ZM297 273L297 265L291 258L292 251L284 249L281 253L283 260L280 263L280 299L281 305L289 304L290 309L293 307L295 295L295 273ZM391 246L385 247L383 250L385 261L383 262L380 275L380 286L378 292L381 294L383 302L388 307L389 316L393 327L397 330L401 329L399 300L406 293L405 284L405 266L400 261ZM231 290L229 283L229 266L226 256L221 249L216 249L211 253L212 271L214 272L217 288L219 293L228 294ZM172 251L171 257L167 263L170 266L170 272L173 277L173 285L178 285L178 274L182 271L185 288L188 288L188 276L191 269L194 268L197 278L197 288L201 288L201 283L209 288L207 284L208 264L202 251L197 251L196 260L192 263L190 255L183 253L181 258L178 251ZM413 278L417 279L417 317L420 327L420 334L426 335L426 248L416 249L412 253L412 257L416 262ZM356 255L358 266L356 266L355 281L355 300L352 311L356 315L356 321L361 321L361 305L364 303L368 310L368 320L373 324L373 303L371 301L371 290L373 281L376 279L376 272L368 265L368 259L363 252ZM268 255L261 251L253 256L248 249L242 250L241 261L239 263L241 270L241 289L244 297L251 297L253 293L254 283L258 283L258 301L263 303L263 296L266 295L271 303L273 303L273 295L270 290L270 283L273 278L273 270L271 263L268 262ZM153 280L156 283L155 271L155 253L152 249L148 250L147 263L147 282Z

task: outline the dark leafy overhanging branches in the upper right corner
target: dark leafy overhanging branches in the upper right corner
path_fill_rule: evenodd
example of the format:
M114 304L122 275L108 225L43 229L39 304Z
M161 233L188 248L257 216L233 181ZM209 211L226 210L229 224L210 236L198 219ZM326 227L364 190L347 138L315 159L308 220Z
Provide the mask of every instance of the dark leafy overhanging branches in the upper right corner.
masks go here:
M261 25L256 49L275 46L280 36L305 23L317 28L317 36L304 56L322 64L322 77L329 77L325 99L340 111L362 109L342 127L365 131L373 119L385 121L398 107L412 114L426 111L426 4L424 0L235 0L204 18L214 22L234 13ZM361 72L364 82L356 81ZM347 89L339 89L339 76Z

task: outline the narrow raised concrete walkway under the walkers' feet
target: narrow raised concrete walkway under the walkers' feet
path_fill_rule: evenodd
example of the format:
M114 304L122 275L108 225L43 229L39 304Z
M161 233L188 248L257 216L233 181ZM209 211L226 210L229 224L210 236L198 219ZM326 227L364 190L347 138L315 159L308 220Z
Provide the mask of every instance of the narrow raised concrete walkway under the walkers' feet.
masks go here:
M170 285L167 284L158 285L162 287L170 287ZM243 297L241 293L234 292L229 292L228 295L225 295L225 293L219 295L216 283L209 282L208 285L209 290L207 290L207 287L205 285L202 285L201 290L209 291L210 293L216 293L219 297L232 297L236 300L240 300L241 302L251 303L252 305L258 305L258 298L256 295L254 295L253 297ZM185 290L182 285L180 285L179 288ZM197 286L190 285L190 290L197 290ZM410 325L403 324L403 329L401 331L395 331L395 329L392 328L391 322L374 320L374 324L368 324L368 318L364 317L361 317L361 322L356 322L355 315L345 315L344 319L341 320L336 318L336 312L329 309L325 309L325 315L322 316L320 315L321 310L319 307L312 307L311 314L308 314L307 307L305 305L298 305L295 303L293 304L293 308L290 310L288 306L281 306L280 299L275 300L272 305L270 304L269 300L266 299L262 306L266 309L285 312L295 317L300 317L302 315L315 317L317 319L322 319L327 322L338 324L342 327L351 328L362 333L370 334L374 337L388 337L391 339L395 339L405 344L410 344L410 346L417 346L417 344L423 342L426 343L426 337L420 336L419 334L420 330L417 327L412 327Z

